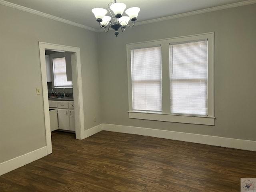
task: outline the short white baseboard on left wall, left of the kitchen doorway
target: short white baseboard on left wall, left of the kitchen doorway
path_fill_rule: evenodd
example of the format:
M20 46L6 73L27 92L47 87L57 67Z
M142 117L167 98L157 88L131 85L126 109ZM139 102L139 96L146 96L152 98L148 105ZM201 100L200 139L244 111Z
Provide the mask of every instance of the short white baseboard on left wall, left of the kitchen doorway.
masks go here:
M6 162L0 163L0 175L22 167L47 155L47 148L42 147L22 156L18 156Z

